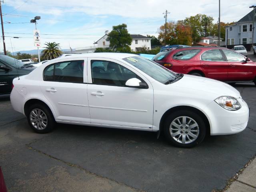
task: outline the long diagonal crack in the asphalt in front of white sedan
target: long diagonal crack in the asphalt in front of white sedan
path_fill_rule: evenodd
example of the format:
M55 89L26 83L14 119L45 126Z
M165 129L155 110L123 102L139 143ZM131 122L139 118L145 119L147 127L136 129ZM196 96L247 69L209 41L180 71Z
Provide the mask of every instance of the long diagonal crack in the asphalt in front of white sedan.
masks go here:
M73 164L73 163L70 163L70 162L66 162L66 161L64 161L64 160L61 160L61 159L59 159L59 158L56 158L56 157L51 156L51 155L49 155L49 154L46 154L45 152L42 152L42 151L40 151L40 150L38 150L38 149L36 149L36 148L33 148L33 147L29 146L29 145L32 144L33 142L35 142L35 141L32 141L32 142L30 142L29 144L26 144L26 147L27 147L28 149L30 149L30 150L36 151L36 152L38 152L38 153L40 153L40 154L43 154L43 155L45 155L45 156L47 156L47 157L49 157L49 158L51 158L51 159L57 160L57 161L59 161L59 162L62 162L62 163L64 163L64 164L68 165L68 166L75 167L75 168L78 168L78 169L80 169L80 170L83 170L83 171L85 171L87 174L92 174L92 175L97 176L97 177L100 177L100 178L104 178L104 179L111 180L111 181L113 181L113 182L116 182L117 184L127 186L127 187L129 187L129 188L132 188L133 190L138 191L138 192L146 192L146 190L140 190L140 189L134 188L134 187L132 187L132 186L129 186L129 185L126 184L126 183L118 182L118 181L116 181L116 180L114 180L114 179L107 178L107 177L105 177L105 176L101 176L101 175L99 175L99 174L90 172L90 171L86 170L85 168L83 168L82 166L80 166L80 165L78 165L78 164ZM126 142L126 143L128 143L128 142ZM126 143L125 143L125 144L126 144ZM124 144L123 144L123 145L124 145Z

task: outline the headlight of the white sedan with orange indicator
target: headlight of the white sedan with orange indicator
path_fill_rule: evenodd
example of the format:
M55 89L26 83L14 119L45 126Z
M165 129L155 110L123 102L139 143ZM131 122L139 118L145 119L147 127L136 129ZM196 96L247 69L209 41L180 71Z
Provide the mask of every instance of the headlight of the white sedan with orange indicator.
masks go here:
M220 106L223 108L230 110L230 111L235 111L241 108L240 103L236 98L231 97L231 96L221 96L219 98L216 98L214 100L216 103L218 103Z

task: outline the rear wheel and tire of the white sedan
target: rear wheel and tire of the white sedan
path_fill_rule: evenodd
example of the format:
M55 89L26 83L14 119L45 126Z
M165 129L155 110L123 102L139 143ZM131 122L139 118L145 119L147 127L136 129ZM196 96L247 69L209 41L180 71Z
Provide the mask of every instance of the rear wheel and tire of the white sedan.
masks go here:
M42 104L32 104L26 114L28 124L37 133L48 133L56 124L50 109Z

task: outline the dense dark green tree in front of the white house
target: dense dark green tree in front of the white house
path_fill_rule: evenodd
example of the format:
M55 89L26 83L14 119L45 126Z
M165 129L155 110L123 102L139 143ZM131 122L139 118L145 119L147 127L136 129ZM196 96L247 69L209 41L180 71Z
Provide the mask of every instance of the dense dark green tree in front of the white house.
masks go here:
M130 45L132 44L132 37L128 33L126 24L113 26L106 40L110 42L109 46L116 52L131 51Z

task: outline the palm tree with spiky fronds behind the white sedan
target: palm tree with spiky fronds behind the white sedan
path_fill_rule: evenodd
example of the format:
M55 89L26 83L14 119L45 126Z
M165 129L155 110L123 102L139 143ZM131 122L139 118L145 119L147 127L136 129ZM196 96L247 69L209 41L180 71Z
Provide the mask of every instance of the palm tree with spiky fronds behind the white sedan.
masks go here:
M60 44L56 42L48 42L45 44L45 50L42 50L42 59L51 60L59 57L62 54L60 50Z

